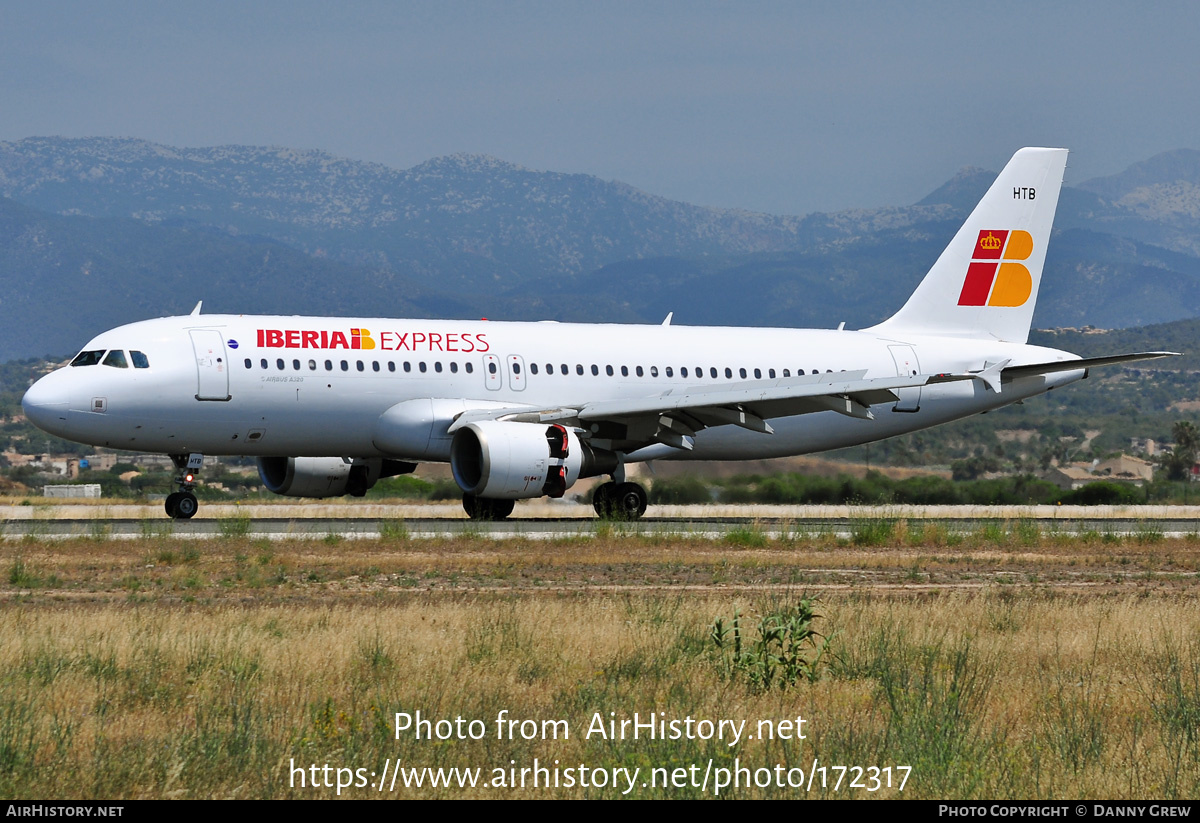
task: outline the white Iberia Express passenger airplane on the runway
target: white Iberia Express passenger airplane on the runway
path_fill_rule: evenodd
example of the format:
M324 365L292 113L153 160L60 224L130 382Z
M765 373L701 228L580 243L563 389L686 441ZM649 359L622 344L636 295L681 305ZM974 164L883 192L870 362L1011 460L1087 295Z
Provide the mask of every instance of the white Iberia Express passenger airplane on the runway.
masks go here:
M908 301L877 325L755 329L202 314L122 325L37 380L25 416L174 461L173 518L204 456L257 457L277 494L362 495L449 463L474 518L563 497L637 518L625 467L839 449L997 409L1098 366L1028 346L1066 149L1006 164Z

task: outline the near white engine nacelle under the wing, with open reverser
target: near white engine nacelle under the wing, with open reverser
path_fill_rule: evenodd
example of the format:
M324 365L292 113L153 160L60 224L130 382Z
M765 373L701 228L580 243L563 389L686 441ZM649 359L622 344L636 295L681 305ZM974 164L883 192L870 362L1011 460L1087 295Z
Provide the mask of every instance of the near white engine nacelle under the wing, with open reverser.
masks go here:
M455 432L450 468L467 494L521 500L563 497L580 477L614 470L617 456L565 426L487 420Z

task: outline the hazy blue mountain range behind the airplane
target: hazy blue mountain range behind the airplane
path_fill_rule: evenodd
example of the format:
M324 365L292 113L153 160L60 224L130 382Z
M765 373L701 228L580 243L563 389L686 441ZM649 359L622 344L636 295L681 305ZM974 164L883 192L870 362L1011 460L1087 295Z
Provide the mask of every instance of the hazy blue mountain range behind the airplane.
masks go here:
M720 210L455 155L0 143L0 359L208 312L848 328L899 307L995 173L907 206ZM1064 187L1034 323L1200 316L1200 152Z

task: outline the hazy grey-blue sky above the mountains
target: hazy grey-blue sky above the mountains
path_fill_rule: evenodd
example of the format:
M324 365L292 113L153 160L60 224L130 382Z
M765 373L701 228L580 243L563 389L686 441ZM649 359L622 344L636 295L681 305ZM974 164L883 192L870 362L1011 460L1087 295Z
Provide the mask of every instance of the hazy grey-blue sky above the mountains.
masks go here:
M1194 2L11 2L0 140L466 151L703 205L911 203L1200 148Z

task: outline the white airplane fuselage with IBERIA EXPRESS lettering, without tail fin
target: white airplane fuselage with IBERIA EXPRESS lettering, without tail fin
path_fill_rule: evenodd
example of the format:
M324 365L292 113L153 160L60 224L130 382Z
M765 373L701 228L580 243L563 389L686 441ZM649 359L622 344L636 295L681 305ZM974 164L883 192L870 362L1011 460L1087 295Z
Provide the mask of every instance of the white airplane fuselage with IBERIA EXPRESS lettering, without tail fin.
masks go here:
M84 348L110 350L125 353L126 361L139 352L148 367L59 368L25 397L32 422L67 439L140 452L414 461L449 459L446 426L468 409L578 408L694 386L786 380L802 370L866 370L866 378L876 378L1075 358L977 338L890 340L869 330L199 314L120 326ZM872 408L874 420L817 412L773 419L772 434L715 426L697 432L690 451L655 444L628 459L751 459L836 449L1007 406L1084 376L1079 368L1025 377L1000 394L979 380L904 389L899 402ZM406 402L412 407L382 431L384 413ZM397 425L413 431L397 434Z

